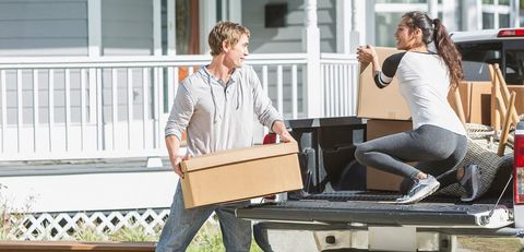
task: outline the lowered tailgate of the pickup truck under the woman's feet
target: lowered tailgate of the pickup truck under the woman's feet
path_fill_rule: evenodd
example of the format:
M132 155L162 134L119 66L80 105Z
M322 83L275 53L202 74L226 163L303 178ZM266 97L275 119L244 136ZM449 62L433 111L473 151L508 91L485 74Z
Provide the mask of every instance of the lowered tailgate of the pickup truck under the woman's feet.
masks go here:
M464 204L456 199L431 196L412 205L395 204L401 195L371 191L338 191L276 203L252 204L237 209L248 219L366 224L386 226L427 226L501 228L512 224L511 201L484 199Z

